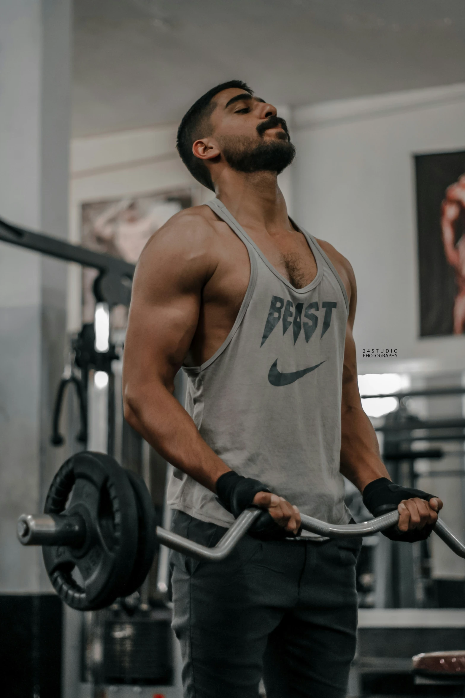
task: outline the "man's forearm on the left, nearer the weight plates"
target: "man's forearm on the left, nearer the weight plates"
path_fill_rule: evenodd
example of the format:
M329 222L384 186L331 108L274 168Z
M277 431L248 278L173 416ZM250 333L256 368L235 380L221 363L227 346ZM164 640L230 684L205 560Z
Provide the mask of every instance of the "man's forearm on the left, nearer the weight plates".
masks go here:
M215 492L230 468L201 438L197 426L164 385L151 384L124 401L126 421L172 466Z

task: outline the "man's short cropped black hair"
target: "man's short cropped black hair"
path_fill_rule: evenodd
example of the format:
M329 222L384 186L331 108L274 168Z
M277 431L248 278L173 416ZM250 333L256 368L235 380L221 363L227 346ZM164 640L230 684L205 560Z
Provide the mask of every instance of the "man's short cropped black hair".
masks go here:
M251 95L254 94L253 90L251 90L245 82L242 82L242 80L222 82L216 87L209 89L208 92L202 95L197 102L190 107L190 110L184 114L178 128L176 148L181 156L181 160L186 168L188 168L190 174L192 174L192 177L195 177L200 184L203 184L212 191L215 191L215 187L213 186L210 172L205 163L193 154L192 145L198 138L210 135L211 127L208 125L208 119L215 109L213 97L215 97L218 92L222 92L224 89L229 89L231 87L243 89Z

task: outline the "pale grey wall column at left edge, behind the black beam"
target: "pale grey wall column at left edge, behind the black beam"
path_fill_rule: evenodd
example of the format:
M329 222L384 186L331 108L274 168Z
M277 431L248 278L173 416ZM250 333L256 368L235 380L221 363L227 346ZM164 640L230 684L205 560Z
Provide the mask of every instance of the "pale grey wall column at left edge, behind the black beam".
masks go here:
M0 3L0 216L68 231L70 0ZM49 588L15 521L43 507L62 450L49 447L63 367L66 265L0 243L0 591Z

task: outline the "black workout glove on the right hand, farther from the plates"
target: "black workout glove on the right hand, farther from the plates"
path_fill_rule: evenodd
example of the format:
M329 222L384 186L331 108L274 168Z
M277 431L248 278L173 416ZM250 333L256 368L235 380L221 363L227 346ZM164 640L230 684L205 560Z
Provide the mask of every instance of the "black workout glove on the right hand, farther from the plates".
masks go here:
M363 503L367 510L374 517L380 517L381 514L393 512L404 499L413 499L418 497L429 502L435 495L423 492L421 489L413 487L401 487L399 484L394 484L387 477L379 477L378 480L369 482L363 490ZM425 540L433 530L433 526L425 526L421 529L408 530L406 533L400 533L397 526L383 530L383 535L386 535L390 540L400 540L402 542L414 543L417 540Z

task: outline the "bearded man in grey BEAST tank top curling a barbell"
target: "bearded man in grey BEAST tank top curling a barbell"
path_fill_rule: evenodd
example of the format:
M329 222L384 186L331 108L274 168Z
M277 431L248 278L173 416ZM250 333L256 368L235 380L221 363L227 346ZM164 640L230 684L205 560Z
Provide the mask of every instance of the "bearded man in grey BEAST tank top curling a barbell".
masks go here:
M263 510L222 563L171 554L188 698L342 698L356 642L360 542L300 535L300 511L348 523L342 474L374 513L425 537L437 498L390 482L360 405L349 262L287 214L294 158L275 107L239 81L185 114L178 151L216 193L148 242L124 358L125 417L172 463L174 530L214 545ZM186 409L174 376L188 374Z

